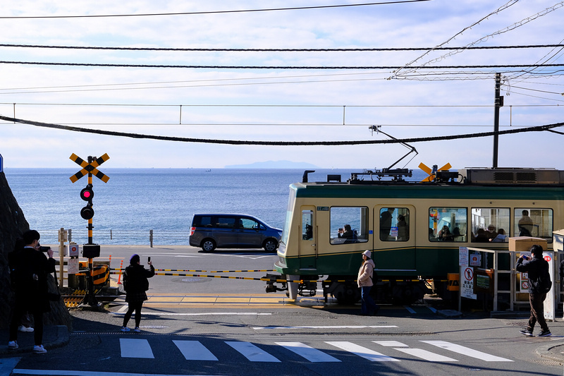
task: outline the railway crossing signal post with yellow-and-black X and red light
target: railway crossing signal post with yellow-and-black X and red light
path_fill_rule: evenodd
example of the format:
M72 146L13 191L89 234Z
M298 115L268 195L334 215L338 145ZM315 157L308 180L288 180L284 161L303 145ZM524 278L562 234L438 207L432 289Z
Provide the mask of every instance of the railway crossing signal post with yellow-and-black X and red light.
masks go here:
M99 306L96 296L94 296L93 258L99 257L100 246L92 243L92 231L94 229L94 226L92 225L92 217L94 217L94 209L92 208L92 198L94 198L94 190L92 190L92 175L96 176L104 183L107 183L109 181L109 177L103 174L97 168L100 164L106 162L108 159L110 159L108 154L104 154L99 158L89 156L88 162L86 162L84 159L78 157L78 155L74 153L71 155L71 160L82 167L80 171L70 177L71 181L75 183L78 181L78 179L82 178L82 176L88 176L86 188L83 188L80 191L80 198L87 201L86 206L82 207L82 210L80 210L80 217L88 220L88 243L83 245L82 255L84 257L87 257L88 269L90 270L90 273L88 274L88 293L87 296L85 296L85 300L88 305L91 305L93 307Z

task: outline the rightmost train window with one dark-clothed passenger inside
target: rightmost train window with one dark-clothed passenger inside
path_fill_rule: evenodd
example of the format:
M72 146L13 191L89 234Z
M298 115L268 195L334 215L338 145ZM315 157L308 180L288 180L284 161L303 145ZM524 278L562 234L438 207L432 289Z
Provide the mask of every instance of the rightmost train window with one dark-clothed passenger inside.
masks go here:
M515 207L513 211L515 236L533 236L552 242L553 210L532 207Z

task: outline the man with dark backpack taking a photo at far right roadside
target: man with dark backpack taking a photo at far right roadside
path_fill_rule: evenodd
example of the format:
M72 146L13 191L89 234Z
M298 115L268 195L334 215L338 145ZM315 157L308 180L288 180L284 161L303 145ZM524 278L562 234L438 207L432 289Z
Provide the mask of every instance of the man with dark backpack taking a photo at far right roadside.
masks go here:
M515 269L517 272L529 273L529 303L531 305L531 317L529 317L529 324L526 328L520 330L521 334L525 336L533 336L534 325L539 322L541 326L541 333L539 336L551 336L551 331L546 325L544 320L544 299L546 299L546 289L548 286L543 286L545 283L548 285L550 281L550 274L548 273L548 262L542 257L541 245L533 245L531 247L532 257L521 255L517 259ZM544 281L544 282L543 282Z

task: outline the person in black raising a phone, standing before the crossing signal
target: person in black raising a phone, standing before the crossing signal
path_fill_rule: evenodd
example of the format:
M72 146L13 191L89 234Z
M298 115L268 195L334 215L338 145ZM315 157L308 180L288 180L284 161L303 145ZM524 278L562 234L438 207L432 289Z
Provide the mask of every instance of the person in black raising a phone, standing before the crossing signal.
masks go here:
M143 302L147 300L147 291L149 289L149 281L147 278L154 276L154 267L152 262L149 264L149 270L140 265L139 255L131 256L130 265L123 272L123 289L125 289L125 301L128 302L128 311L123 316L122 332L129 332L128 321L135 311L135 332L141 332L139 325L141 323L141 308Z

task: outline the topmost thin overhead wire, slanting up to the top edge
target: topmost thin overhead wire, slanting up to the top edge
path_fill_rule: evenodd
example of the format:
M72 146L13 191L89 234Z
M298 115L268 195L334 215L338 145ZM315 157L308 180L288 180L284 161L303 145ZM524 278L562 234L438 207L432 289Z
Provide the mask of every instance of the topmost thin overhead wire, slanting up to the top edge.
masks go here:
M301 11L305 9L322 8L347 8L351 6L370 6L370 5L390 5L402 3L419 3L431 0L397 0L379 1L377 3L362 4L340 4L340 5L320 5L320 6L297 6L293 8L263 8L263 9L239 9L233 11L202 11L202 12L175 12L175 13L140 13L140 14L105 14L105 15L82 15L82 16L4 16L0 19L25 19L25 18L104 18L104 17L147 17L147 16L192 16L198 14L221 14L221 13L250 13L250 12L271 12L271 11Z

